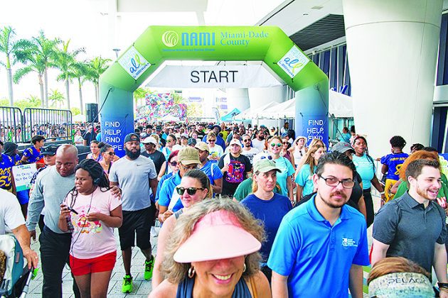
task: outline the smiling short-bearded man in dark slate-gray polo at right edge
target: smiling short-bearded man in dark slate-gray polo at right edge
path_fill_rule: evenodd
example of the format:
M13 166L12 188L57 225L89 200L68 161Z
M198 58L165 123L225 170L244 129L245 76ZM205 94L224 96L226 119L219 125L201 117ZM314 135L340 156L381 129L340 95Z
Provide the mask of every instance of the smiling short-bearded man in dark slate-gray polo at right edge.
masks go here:
M372 265L386 257L414 261L439 280L440 297L448 297L445 211L437 202L439 163L414 160L407 165L409 191L383 206L373 222ZM441 285L442 284L442 285Z

